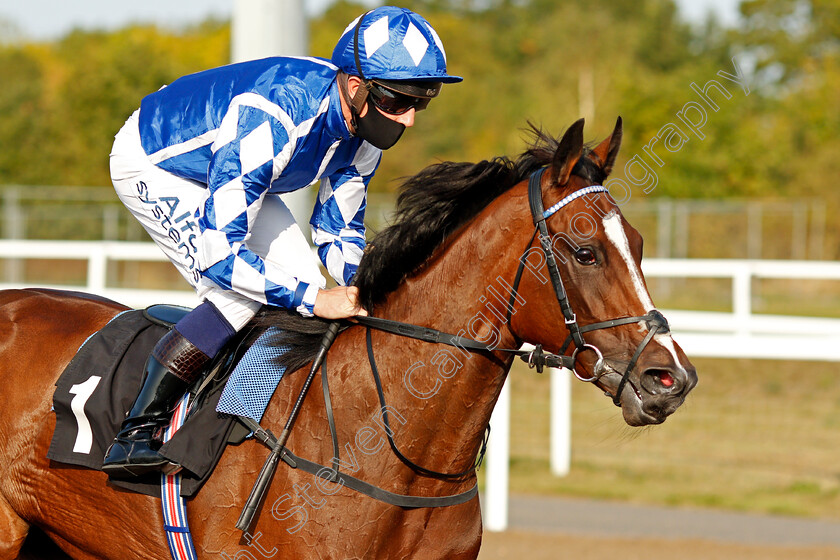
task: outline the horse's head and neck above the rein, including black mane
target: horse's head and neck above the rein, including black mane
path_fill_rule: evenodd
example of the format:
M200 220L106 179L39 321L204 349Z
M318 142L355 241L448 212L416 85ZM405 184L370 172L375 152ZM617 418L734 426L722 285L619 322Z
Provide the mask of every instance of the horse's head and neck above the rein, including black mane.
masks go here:
M648 294L641 236L601 186L620 144L621 119L592 149L580 120L559 141L537 131L516 162L443 162L408 178L359 265L365 307L452 332L467 320L480 342L574 356L628 424L664 421L697 375Z

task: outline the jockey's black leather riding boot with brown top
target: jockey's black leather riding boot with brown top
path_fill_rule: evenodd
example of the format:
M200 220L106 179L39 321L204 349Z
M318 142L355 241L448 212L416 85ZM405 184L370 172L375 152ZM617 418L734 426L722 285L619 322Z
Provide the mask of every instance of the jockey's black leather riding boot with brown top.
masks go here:
M104 472L112 478L132 478L168 463L158 453L162 443L156 436L169 425L175 404L208 361L178 331L166 333L146 361L143 387L105 454Z

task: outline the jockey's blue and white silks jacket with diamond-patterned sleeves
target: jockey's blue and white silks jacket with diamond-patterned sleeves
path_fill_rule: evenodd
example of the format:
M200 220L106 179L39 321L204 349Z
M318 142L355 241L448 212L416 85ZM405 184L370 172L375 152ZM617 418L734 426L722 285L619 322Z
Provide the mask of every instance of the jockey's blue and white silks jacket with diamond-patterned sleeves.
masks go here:
M268 58L184 76L143 99L138 126L151 163L207 186L195 239L204 279L311 314L317 287L248 240L267 195L315 181L310 224L321 261L340 285L355 274L381 151L350 134L336 72L323 59Z

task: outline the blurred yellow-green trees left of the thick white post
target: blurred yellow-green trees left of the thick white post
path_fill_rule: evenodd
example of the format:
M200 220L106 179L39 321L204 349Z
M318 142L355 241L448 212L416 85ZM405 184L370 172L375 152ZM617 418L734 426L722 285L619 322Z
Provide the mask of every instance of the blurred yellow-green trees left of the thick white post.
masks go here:
M109 185L111 143L140 99L226 63L229 43L228 25L208 21L179 35L134 26L0 46L0 184Z

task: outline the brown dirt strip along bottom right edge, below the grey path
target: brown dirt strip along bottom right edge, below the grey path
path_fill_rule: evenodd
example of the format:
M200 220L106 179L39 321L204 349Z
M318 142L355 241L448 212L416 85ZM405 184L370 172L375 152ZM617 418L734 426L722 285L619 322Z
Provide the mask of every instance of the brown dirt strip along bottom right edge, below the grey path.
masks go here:
M840 548L755 546L697 539L486 533L479 560L840 560Z

